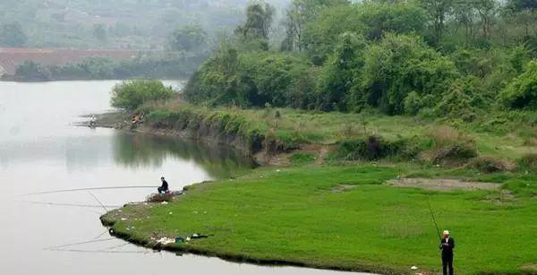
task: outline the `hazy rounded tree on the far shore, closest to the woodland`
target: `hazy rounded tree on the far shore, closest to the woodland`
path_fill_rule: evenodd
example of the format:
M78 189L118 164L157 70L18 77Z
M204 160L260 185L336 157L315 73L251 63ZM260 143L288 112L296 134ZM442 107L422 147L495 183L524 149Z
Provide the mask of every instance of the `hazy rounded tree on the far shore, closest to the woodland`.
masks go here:
M207 32L199 24L186 25L172 33L169 45L174 50L201 52L207 47Z

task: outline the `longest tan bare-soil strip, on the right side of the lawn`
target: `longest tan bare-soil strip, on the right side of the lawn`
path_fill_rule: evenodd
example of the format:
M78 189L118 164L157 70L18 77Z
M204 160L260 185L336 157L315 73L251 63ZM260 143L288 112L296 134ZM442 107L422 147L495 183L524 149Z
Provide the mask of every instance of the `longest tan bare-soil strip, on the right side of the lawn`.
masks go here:
M493 183L471 182L448 178L399 178L389 180L388 185L396 187L413 187L434 191L451 190L499 190L501 185Z

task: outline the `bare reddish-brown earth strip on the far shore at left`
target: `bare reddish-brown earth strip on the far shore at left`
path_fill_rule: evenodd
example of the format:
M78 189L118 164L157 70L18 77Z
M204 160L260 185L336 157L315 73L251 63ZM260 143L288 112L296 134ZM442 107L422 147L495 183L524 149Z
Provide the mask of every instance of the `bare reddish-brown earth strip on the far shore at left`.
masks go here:
M25 61L46 65L64 65L79 63L90 56L104 56L119 60L132 58L137 53L133 50L0 47L0 76L13 75L17 65Z

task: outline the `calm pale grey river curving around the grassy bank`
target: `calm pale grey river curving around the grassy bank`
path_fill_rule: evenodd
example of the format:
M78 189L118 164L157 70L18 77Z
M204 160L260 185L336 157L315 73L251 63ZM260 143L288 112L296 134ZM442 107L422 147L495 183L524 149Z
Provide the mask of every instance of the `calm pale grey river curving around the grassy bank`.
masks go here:
M24 195L157 186L160 176L180 190L251 165L226 148L76 126L83 115L111 109L115 83L0 82L0 274L340 273L154 252L109 236L98 219L105 212L98 201L113 209L144 200L152 188Z

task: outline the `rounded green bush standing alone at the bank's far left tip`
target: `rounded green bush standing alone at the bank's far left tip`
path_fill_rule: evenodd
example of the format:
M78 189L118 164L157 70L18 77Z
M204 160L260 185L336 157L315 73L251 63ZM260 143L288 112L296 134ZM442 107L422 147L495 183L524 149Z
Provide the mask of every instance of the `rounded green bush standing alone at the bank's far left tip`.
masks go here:
M175 94L171 87L154 80L135 80L116 84L112 90L112 106L133 110L143 103L170 99Z

